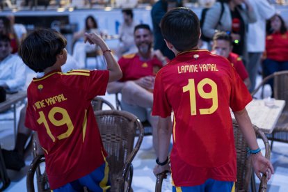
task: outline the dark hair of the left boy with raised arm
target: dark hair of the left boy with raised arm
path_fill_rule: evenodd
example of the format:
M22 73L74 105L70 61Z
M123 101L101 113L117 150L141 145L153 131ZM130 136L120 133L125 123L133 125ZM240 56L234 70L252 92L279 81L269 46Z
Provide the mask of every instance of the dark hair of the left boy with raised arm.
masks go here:
M25 38L19 48L19 56L35 72L44 72L56 63L67 41L54 29L38 29Z

